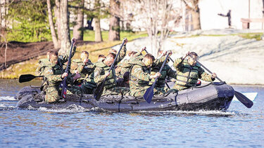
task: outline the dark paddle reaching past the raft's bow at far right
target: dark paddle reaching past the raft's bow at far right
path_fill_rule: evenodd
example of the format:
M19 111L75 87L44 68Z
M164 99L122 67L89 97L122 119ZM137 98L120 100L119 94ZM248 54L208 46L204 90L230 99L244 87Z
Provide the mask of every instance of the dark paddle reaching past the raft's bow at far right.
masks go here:
M212 72L210 72L209 69L207 69L205 66L203 66L201 64L201 62L199 62L198 60L196 60L196 62L201 65L204 69L207 70L207 72L209 72L210 74L213 74ZM220 82L222 82L221 79L218 78L218 76L216 76L216 79L218 79ZM243 95L242 93L237 92L236 90L234 90L234 95L237 97L237 99L246 107L251 108L253 106L253 102L251 100L249 100L249 98L247 98L245 95Z

